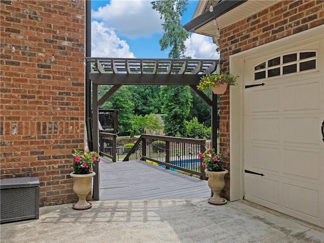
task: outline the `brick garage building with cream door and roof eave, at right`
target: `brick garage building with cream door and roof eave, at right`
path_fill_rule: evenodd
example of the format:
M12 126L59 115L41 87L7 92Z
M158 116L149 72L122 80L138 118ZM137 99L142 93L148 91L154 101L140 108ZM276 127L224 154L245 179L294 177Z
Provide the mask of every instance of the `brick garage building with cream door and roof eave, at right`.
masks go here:
M184 27L239 75L220 99L225 197L324 227L324 2L211 2Z

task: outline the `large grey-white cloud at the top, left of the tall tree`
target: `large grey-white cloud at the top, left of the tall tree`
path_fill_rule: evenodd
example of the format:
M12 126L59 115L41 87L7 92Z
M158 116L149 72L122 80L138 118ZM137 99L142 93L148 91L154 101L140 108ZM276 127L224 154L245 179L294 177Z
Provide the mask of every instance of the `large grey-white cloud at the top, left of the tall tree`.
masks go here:
M150 1L111 0L110 4L92 11L92 19L113 28L118 35L128 38L148 37L162 32L159 13L152 9Z

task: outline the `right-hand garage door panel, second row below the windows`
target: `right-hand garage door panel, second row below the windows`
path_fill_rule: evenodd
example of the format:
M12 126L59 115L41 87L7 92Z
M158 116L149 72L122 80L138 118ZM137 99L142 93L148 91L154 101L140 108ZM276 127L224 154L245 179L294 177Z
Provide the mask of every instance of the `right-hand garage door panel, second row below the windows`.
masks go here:
M283 139L287 145L321 147L321 114L289 115L283 118ZM317 146L316 146L317 145Z

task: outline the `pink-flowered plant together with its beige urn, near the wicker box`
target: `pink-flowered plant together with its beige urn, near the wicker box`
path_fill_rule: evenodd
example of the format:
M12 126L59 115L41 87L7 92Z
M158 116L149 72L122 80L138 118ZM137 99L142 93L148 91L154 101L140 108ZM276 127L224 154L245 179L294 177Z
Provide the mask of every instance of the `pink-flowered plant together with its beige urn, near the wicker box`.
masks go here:
M74 163L72 166L73 172L70 174L73 177L73 191L78 196L77 203L72 205L73 209L86 210L92 207L92 203L87 202L86 197L92 188L92 177L96 175L95 172L91 171L92 167L95 166L95 162L100 161L99 154L97 152L84 153L74 149L72 154L74 157Z

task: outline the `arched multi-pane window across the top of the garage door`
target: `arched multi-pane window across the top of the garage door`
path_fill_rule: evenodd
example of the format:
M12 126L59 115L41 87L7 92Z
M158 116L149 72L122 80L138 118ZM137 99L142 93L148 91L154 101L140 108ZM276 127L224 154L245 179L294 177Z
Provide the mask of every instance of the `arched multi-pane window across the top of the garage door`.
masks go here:
M254 80L316 69L316 51L289 53L254 67Z

